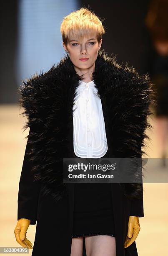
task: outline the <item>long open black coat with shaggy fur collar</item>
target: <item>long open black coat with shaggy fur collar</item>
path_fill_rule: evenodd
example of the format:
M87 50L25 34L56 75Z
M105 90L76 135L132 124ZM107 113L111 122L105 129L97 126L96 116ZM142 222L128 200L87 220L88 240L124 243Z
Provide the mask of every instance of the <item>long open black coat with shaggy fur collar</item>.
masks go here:
M73 101L80 77L69 56L48 72L23 82L20 106L30 128L19 183L18 219L36 224L33 256L70 256L74 184L63 184L63 158L73 152ZM139 74L115 56L98 52L93 80L102 102L110 158L144 153L153 90L149 76ZM110 184L117 256L137 256L133 242L124 248L129 216L143 217L142 184Z

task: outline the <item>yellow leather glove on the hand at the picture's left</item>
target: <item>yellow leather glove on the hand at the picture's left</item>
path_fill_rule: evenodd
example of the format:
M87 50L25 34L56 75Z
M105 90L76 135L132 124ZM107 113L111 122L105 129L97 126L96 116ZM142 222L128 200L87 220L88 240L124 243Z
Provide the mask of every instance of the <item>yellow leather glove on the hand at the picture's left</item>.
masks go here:
M30 220L21 218L15 227L14 233L16 241L23 247L33 249L32 243L26 238L26 233L30 225Z

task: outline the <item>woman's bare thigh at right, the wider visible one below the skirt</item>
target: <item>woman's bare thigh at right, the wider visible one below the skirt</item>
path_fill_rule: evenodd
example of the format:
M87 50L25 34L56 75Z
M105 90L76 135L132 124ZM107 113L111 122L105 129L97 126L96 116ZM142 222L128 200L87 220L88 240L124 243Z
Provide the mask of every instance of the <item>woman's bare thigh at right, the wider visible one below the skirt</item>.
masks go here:
M116 256L115 237L108 235L86 236L87 256Z

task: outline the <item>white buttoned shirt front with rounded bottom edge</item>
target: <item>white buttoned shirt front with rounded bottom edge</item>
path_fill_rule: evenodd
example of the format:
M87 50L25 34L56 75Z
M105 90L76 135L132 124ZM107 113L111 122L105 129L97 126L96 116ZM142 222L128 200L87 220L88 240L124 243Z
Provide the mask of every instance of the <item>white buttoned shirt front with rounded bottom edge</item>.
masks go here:
M78 157L99 158L108 150L101 99L92 81L79 81L73 105L73 148Z

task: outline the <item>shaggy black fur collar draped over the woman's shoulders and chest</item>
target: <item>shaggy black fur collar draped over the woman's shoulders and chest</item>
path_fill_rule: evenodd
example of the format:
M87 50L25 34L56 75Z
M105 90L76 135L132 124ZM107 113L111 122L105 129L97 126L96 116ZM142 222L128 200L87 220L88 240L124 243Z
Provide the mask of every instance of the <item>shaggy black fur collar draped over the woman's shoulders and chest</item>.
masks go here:
M59 200L65 192L63 157L73 148L73 100L80 77L69 56L48 72L33 75L19 89L20 107L28 117L24 128L30 127L28 143L35 180L44 184L44 193ZM149 104L153 92L149 76L139 74L125 64L117 64L115 56L98 52L93 81L101 98L110 157L141 157L145 146ZM60 166L60 167L59 167ZM124 185L123 185L124 186ZM127 184L125 195L138 198L140 184Z

